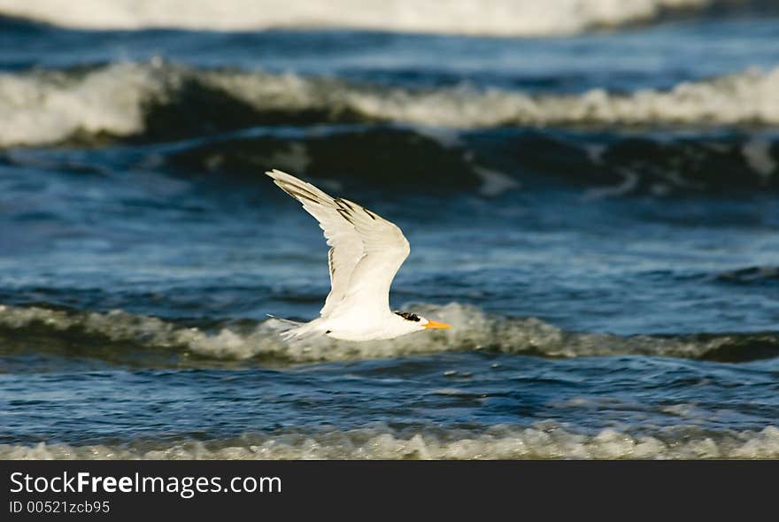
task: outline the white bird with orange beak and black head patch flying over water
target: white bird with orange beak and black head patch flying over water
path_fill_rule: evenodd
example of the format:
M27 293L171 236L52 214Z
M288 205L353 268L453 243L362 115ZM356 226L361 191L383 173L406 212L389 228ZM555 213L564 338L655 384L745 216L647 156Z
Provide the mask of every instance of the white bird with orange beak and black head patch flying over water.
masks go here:
M328 240L330 294L320 317L283 333L285 338L328 335L347 341L393 339L451 326L390 310L390 284L411 249L403 232L381 216L278 170L266 172L319 221Z

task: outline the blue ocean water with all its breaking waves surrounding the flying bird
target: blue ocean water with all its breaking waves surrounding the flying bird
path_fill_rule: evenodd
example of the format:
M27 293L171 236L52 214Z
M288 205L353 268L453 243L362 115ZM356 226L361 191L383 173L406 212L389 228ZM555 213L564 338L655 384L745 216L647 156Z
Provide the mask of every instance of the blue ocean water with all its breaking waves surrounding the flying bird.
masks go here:
M775 3L50 4L0 1L0 457L779 457ZM327 246L271 168L451 330L282 341Z

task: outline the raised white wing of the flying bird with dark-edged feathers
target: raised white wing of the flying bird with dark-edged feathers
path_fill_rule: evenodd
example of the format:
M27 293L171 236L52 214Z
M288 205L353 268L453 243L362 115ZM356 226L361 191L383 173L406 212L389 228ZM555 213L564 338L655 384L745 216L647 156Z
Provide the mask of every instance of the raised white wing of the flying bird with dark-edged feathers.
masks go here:
M411 249L403 232L390 221L347 199L334 198L273 170L266 173L289 196L303 203L305 211L320 223L330 245L330 294L322 317L352 307L360 315L390 309L390 284Z

